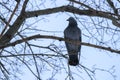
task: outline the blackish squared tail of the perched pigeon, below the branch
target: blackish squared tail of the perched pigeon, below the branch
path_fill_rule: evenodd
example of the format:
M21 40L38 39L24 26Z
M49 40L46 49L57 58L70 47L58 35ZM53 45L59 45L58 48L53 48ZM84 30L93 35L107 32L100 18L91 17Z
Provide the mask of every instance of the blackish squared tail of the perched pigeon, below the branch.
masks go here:
M78 55L77 54L69 55L69 65L76 66L78 64L79 64Z

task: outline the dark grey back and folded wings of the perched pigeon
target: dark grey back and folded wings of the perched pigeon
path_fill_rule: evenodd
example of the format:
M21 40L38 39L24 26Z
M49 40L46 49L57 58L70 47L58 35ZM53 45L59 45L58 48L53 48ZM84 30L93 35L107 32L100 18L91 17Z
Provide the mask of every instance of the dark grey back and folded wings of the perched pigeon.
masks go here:
M64 38L65 39L72 39L72 40L77 40L81 41L81 31L79 28L66 28L64 31ZM65 42L66 48L69 51L75 51L79 52L81 46L80 45L75 45L72 43Z

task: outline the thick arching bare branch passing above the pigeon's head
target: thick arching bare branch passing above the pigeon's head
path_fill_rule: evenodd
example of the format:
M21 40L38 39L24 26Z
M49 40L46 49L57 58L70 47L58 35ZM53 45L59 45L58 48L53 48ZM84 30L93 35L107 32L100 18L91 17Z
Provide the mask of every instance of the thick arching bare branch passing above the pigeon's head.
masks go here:
M104 11L98 11L93 8L89 8L88 10L81 10L79 8L73 7L73 6L61 6L56 8L49 8L44 10L36 10L36 11L28 11L26 12L26 17L37 17L39 15L46 15L46 14L52 14L56 12L71 12L78 15L87 15L92 17L102 17L110 19L113 23L113 25L120 27L119 17L120 15L116 15L110 12L104 12Z

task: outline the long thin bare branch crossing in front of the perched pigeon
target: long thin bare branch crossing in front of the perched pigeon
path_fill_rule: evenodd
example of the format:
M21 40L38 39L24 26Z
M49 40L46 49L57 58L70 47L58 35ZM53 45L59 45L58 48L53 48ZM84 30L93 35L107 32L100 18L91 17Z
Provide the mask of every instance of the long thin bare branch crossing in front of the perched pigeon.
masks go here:
M33 39L38 39L38 38L44 38L44 39L55 39L55 40L59 40L59 41L66 41L66 42L69 42L69 43L72 43L72 44L76 44L76 45L84 45L84 46L89 46L89 47L93 47L93 48L98 48L98 49L103 49L103 50L106 50L106 51L110 51L110 52L115 52L115 53L118 53L120 54L120 50L114 50L114 49L111 49L110 47L104 47L104 46L99 46L99 45L95 45L95 44L91 44L91 43L85 43L85 42L76 42L74 40L67 40L67 39L64 39L62 37L56 37L56 36L48 36L48 35L34 35L34 36L30 36L30 37L27 37L27 38L24 38L24 39L21 39L21 40L17 40L13 43L9 43L9 44L6 44L6 45L3 45L3 46L0 46L0 49L3 49L3 48L6 48L6 47L10 47L10 46L15 46L17 44L20 44L20 43L23 43L23 42L26 42L26 41L29 41L29 40L33 40Z

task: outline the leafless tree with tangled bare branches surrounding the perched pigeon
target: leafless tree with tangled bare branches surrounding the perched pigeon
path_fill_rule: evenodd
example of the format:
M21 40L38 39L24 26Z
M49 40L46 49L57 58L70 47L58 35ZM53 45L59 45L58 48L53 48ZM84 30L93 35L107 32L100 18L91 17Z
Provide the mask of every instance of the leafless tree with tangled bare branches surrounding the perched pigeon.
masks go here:
M83 37L76 45L104 50L104 54L120 54L119 5L119 0L1 0L0 79L18 80L25 68L37 80L58 80L60 76L65 80L86 80L81 74L87 74L87 80L97 80L96 71L105 71L115 80L114 71L110 71L114 65L108 70L95 66L91 69L82 63L71 68L64 41L76 42L56 35L63 31L49 30L54 24L46 30L42 24L49 21L48 16L74 16Z

